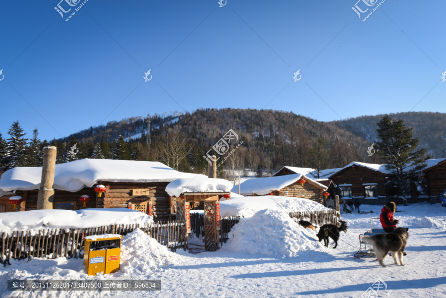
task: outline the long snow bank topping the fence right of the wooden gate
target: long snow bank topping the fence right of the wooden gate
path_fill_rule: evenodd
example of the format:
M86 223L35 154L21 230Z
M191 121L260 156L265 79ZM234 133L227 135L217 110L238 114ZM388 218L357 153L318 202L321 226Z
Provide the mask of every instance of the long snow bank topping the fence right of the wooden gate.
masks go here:
M315 201L276 195L238 197L220 201L222 216L251 217L263 209L283 210L286 212L330 210Z

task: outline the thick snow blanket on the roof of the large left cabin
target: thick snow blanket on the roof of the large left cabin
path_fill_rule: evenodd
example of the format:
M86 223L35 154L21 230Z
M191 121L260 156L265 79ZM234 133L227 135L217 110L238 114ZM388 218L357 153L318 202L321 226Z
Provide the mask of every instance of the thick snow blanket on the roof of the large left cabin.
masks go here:
M159 182L194 177L181 173L159 162L112 159L81 159L56 165L54 189L78 191L91 187L97 181L111 182ZM0 189L39 189L42 167L17 167L3 173Z

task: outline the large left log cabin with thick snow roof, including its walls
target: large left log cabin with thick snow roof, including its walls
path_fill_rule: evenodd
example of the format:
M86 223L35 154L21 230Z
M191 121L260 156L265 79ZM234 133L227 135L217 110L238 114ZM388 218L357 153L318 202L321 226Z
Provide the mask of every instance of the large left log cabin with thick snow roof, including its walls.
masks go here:
M42 167L17 167L6 171L0 179L0 207L11 212L8 198L21 196L20 211L35 210L40 187ZM181 173L159 162L82 159L56 165L54 209L79 210L84 208L132 208L149 213L154 221L171 216L171 198L166 185L179 178L193 178L196 174ZM95 186L103 184L101 196ZM79 197L88 195L90 201L83 206Z

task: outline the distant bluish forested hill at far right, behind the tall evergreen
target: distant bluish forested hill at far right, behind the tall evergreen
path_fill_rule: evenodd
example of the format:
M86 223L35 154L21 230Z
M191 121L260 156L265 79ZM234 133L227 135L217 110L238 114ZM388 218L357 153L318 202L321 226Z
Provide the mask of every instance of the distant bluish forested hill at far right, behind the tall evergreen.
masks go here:
M420 146L429 149L434 158L446 157L446 114L432 112L409 112L389 114L392 119L403 119L412 128L413 137L420 139ZM377 123L384 115L361 116L333 121L339 128L348 130L369 142L377 141Z

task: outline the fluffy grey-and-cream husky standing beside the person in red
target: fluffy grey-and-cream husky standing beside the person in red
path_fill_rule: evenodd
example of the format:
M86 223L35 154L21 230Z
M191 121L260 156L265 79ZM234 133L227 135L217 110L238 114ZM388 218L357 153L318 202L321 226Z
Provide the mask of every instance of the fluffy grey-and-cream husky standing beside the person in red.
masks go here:
M403 252L407 245L407 238L409 238L407 231L409 231L407 228L396 228L393 233L364 236L362 240L367 244L373 244L373 251L375 251L381 266L387 267L383 260L389 251L391 251L396 265L405 266Z

